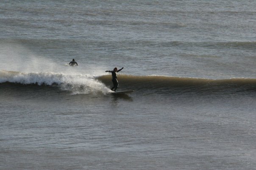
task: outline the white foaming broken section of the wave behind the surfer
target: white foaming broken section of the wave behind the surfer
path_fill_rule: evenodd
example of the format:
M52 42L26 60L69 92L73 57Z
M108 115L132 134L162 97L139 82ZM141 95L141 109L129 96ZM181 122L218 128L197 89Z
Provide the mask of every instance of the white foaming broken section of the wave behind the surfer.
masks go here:
M97 94L111 92L103 83L90 75L63 74L50 72L22 73L17 71L0 71L0 83L16 83L22 85L48 85L60 90L70 91L72 94Z

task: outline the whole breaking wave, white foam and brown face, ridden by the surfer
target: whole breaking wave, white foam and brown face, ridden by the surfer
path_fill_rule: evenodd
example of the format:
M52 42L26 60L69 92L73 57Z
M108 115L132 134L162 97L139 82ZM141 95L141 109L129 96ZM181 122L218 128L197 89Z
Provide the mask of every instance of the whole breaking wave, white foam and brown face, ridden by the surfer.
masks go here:
M256 79L232 78L211 80L203 78L118 75L118 90L135 90L136 93L255 93ZM58 87L72 94L107 94L112 91L111 75L95 77L85 74L52 72L22 73L0 71L0 84L11 83L17 88L22 85ZM8 86L8 85L5 85Z

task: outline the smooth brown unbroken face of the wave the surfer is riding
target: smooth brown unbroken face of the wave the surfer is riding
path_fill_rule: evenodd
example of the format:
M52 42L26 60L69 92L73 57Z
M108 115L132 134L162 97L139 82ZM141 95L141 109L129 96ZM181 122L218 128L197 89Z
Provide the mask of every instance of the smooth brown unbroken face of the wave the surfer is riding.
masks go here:
M100 81L111 85L111 76L98 77ZM234 78L211 80L200 78L166 77L166 76L131 76L119 75L120 88L131 88L157 93L235 93L256 92L256 79Z

